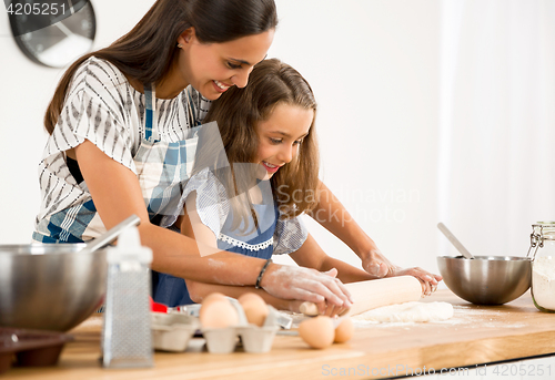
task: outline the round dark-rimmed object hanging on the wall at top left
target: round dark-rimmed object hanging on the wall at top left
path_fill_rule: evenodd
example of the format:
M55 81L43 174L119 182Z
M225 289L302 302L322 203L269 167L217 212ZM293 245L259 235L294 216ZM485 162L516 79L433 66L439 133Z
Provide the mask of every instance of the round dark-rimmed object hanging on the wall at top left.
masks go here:
M97 19L89 0L4 0L13 38L33 62L63 68L92 48Z

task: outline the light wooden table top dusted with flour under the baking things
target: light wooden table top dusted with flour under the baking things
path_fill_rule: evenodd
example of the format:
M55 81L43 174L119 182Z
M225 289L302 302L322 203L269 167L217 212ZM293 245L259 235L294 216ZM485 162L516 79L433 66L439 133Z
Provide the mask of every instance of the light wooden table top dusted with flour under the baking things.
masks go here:
M297 336L278 335L268 353L211 355L199 338L185 352L155 352L153 368L132 370L100 367L102 318L91 317L70 331L75 341L65 346L58 366L12 368L2 378L306 380L344 373L374 379L555 352L555 314L539 312L529 292L503 306L472 305L450 290L424 301L451 302L454 317L428 323L357 322L349 342L324 350L310 349Z

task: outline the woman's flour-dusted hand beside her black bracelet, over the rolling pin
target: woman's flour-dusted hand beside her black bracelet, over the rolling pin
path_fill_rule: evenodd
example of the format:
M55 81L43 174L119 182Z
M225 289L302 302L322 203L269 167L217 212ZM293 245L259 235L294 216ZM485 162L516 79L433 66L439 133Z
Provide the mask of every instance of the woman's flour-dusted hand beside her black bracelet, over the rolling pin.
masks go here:
M304 267L271 264L260 285L274 297L299 300L296 308L302 301L309 301L316 304L321 314L333 314L334 309L330 306L340 310L353 305L349 290L335 278L336 275L336 269L321 273Z

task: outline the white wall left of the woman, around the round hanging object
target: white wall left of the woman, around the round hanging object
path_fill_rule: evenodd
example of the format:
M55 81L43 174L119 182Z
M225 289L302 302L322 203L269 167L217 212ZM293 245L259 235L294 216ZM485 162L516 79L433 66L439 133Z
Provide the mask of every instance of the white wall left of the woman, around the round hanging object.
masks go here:
M93 49L129 31L153 0L91 0L97 12ZM11 37L0 6L0 244L27 244L39 210L37 167L46 144L42 119L62 70L28 60Z

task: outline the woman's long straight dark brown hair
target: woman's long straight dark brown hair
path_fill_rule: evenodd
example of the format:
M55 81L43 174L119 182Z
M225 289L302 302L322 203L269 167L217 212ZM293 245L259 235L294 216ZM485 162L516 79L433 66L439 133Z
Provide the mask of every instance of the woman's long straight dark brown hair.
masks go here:
M176 59L176 41L186 29L193 27L202 43L218 43L260 34L276 24L274 0L158 0L129 33L71 64L47 109L44 127L52 134L71 79L91 57L109 61L141 83L159 83Z

